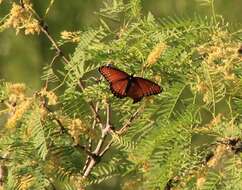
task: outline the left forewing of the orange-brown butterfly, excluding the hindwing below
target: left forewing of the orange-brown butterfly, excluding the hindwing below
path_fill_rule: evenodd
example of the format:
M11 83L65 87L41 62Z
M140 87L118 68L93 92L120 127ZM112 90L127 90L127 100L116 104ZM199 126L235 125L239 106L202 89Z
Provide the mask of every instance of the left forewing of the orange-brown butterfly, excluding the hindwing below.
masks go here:
M102 66L99 68L99 72L110 84L124 79L128 79L129 77L127 73L111 66Z

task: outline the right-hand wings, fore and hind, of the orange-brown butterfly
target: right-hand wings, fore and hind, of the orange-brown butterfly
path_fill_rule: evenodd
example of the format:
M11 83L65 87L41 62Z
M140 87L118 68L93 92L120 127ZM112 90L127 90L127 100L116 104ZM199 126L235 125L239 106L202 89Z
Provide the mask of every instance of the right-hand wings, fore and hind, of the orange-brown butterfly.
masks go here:
M136 103L144 96L159 94L161 91L162 88L158 84L141 77L134 77L127 91L127 96L134 100L133 103Z

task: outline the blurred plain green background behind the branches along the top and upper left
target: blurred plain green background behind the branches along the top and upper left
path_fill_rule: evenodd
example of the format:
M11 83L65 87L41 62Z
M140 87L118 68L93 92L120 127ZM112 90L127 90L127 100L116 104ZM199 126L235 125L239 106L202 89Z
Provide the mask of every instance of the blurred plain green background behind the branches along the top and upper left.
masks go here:
M44 15L50 0L32 1L35 10ZM8 12L11 1L4 0L0 5L0 17ZM98 24L94 14L103 5L103 0L55 1L45 18L51 34L59 39L63 30L85 30ZM167 16L210 15L208 7L201 6L196 0L143 0L143 12L152 12L157 18ZM215 0L216 13L239 27L242 21L242 0ZM73 46L65 48L71 54ZM13 29L0 33L0 78L6 81L24 82L32 89L41 86L42 67L51 62L54 52L44 35L16 35Z

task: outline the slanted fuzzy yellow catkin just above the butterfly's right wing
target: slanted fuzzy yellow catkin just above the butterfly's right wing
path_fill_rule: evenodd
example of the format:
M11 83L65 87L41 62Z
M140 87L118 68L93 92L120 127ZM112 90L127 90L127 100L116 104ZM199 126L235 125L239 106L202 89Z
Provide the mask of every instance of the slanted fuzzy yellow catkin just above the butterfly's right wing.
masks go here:
M155 46L155 48L150 52L147 58L147 66L155 64L162 53L166 50L167 45L164 42L160 42Z

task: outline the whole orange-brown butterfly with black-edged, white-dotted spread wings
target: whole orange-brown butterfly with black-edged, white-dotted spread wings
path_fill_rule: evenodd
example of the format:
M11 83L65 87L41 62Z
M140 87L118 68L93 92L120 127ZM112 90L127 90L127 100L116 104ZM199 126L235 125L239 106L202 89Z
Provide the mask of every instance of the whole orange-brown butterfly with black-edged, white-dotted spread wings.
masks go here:
M109 82L111 92L118 98L130 97L133 103L139 102L144 96L159 94L162 88L141 77L134 77L112 66L101 66L99 72Z

